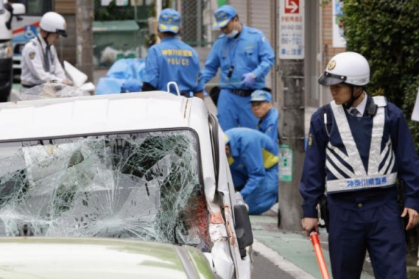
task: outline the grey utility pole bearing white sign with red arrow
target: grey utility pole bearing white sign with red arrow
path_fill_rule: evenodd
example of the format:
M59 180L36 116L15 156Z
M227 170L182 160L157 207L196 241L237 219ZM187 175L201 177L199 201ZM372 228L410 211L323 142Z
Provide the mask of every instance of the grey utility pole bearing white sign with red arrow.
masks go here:
M277 54L283 96L280 135L283 144L288 145L280 148L280 177L283 179L279 182L278 222L280 229L301 231L303 209L298 185L305 155L305 0L278 0L278 3Z

